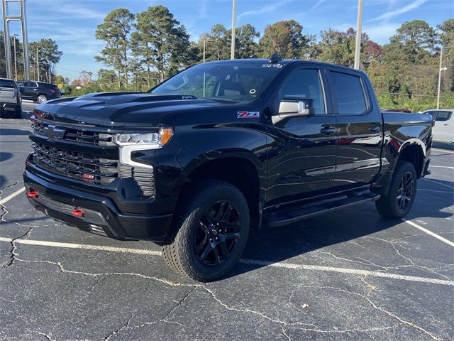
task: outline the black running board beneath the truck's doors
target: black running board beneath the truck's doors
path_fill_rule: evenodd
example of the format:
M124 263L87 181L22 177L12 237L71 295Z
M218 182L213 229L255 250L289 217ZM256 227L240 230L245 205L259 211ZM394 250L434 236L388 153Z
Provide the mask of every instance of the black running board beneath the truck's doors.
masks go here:
M314 202L313 204L303 206L284 207L280 210L264 213L263 220L270 227L279 227L315 217L316 215L323 215L367 202L375 202L378 199L380 199L380 195L367 192L352 197L342 197L337 200Z

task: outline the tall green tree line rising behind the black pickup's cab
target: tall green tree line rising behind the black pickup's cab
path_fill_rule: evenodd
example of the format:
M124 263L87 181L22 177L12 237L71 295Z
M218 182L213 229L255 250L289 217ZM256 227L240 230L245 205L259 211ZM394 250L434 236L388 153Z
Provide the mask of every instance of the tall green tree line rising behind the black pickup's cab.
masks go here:
M321 31L320 38L304 33L294 20L279 21L260 33L247 23L236 28L235 58L319 60L353 67L353 28ZM95 59L106 65L99 70L96 86L103 90L146 90L179 70L205 60L230 58L231 30L216 24L211 31L189 39L182 23L165 6L146 11L111 11L96 28L96 39L106 45ZM454 18L436 28L426 21L403 23L389 43L380 45L362 33L360 68L370 76L382 107L426 109L436 102L440 47L445 47L441 102L454 107Z

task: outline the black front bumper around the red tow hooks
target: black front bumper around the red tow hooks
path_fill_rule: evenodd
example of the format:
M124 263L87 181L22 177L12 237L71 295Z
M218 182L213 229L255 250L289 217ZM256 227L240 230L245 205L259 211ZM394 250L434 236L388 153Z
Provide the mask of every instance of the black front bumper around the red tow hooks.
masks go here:
M170 232L172 214L124 213L107 196L59 185L29 169L23 173L23 182L26 193L32 190L38 192L38 196L28 197L33 207L79 229L115 239L148 239L157 243L164 242ZM76 208L84 211L83 217L72 214Z

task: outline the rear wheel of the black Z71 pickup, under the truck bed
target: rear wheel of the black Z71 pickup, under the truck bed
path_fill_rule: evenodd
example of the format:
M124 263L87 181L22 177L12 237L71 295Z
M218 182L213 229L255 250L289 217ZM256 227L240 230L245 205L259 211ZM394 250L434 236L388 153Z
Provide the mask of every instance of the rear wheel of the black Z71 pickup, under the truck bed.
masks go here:
M400 219L407 215L416 197L416 171L413 164L398 161L389 190L375 202L383 217Z

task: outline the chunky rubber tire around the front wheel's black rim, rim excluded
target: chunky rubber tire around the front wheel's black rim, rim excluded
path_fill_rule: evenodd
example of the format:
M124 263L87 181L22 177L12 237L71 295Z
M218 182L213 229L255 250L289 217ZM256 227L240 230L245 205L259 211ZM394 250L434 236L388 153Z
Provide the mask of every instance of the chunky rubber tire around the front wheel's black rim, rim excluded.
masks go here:
M175 213L175 232L163 247L165 263L182 276L196 281L208 282L223 277L240 259L248 240L248 202L241 191L230 183L219 180L201 180L182 193L179 210ZM194 233L199 221L211 205L219 200L228 200L238 212L239 234L228 259L216 266L206 266L197 259Z

